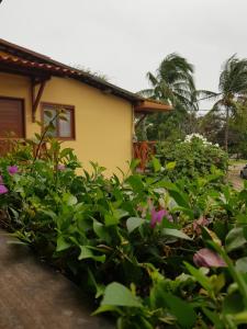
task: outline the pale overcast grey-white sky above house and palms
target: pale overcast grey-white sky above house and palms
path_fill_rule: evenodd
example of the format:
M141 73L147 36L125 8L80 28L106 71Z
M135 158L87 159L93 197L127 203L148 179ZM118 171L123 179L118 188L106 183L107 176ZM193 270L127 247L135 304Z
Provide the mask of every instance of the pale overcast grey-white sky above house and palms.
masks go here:
M178 53L198 89L217 91L222 64L247 57L246 14L246 0L3 0L0 37L133 92Z

